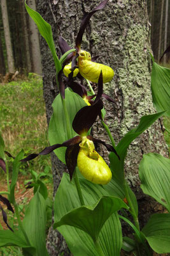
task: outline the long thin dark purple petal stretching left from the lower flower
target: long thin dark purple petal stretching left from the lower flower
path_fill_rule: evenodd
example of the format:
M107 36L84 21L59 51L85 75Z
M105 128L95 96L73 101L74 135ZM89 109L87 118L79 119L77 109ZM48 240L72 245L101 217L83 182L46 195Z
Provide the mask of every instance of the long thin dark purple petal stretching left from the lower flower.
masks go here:
M70 145L74 145L76 143L79 143L80 141L81 141L81 137L80 136L76 136L76 137L71 138L71 139L69 139L67 141L64 141L64 143L62 143L62 144L55 144L55 145L52 145L50 147L46 147L41 152L39 152L39 154L31 154L31 155L25 157L24 159L22 159L20 161L26 162L26 161L29 161L29 160L32 160L32 159L36 158L39 155L42 156L42 155L50 154L56 148L68 147Z

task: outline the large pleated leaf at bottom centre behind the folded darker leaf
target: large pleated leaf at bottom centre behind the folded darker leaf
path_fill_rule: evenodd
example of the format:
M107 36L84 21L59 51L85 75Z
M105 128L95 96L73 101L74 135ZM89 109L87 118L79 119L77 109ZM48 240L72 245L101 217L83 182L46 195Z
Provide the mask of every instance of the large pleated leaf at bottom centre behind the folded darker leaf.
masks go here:
M102 196L107 196L103 186L92 184L88 180L80 179L81 189L85 200L85 205L96 204ZM76 186L69 181L69 175L64 173L54 202L54 219L59 221L62 216L81 207ZM57 228L66 239L66 243L74 256L97 256L92 238L83 230L77 227L63 225ZM104 223L99 233L99 244L104 255L120 255L122 247L122 228L117 212L111 214Z

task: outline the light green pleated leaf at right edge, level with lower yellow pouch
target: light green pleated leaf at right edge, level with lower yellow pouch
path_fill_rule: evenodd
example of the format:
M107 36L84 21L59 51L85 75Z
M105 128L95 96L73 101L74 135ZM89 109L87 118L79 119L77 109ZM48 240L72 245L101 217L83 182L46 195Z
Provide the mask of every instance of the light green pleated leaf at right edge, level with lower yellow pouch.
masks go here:
M152 196L170 212L170 159L160 154L144 154L139 164L143 193Z

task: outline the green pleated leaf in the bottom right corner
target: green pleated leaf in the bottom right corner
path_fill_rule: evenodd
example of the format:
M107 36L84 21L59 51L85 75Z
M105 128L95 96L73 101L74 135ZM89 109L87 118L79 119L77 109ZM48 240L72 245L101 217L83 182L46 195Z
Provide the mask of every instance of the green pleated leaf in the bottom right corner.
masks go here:
M170 214L153 214L142 230L157 253L170 253Z

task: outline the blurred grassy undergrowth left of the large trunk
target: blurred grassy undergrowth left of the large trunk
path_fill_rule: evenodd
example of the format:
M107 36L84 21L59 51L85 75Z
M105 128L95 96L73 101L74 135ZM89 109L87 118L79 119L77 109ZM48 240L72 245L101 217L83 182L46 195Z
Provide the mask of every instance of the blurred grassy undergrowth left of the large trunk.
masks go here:
M43 82L41 76L29 74L24 81L0 84L0 129L5 150L17 156L23 148L27 154L41 151L48 146ZM12 159L9 159L12 162ZM37 157L24 163L20 172L43 172L51 168L50 157Z

